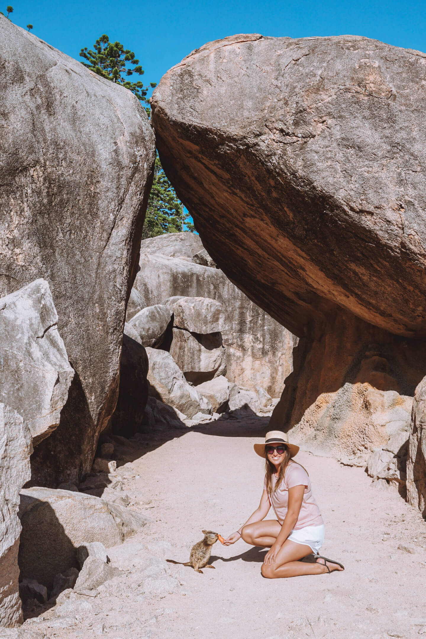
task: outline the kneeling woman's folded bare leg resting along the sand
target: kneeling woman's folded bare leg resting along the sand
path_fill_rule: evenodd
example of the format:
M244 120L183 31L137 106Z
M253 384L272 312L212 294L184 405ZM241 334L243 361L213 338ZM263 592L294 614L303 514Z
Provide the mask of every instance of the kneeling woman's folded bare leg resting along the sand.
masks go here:
M278 524L279 525L279 524ZM308 564L300 559L312 554L312 548L287 539L278 551L275 564L262 564L261 573L268 579L298 577L302 574L325 574L328 569L321 563ZM333 571L335 564L328 564Z

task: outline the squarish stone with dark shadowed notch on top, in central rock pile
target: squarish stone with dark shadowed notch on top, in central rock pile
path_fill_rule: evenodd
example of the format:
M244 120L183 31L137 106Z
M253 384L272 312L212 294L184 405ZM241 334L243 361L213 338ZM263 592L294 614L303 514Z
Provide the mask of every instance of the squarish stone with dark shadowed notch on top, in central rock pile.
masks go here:
M170 354L186 381L194 385L226 374L225 348L220 333L202 335L173 328Z

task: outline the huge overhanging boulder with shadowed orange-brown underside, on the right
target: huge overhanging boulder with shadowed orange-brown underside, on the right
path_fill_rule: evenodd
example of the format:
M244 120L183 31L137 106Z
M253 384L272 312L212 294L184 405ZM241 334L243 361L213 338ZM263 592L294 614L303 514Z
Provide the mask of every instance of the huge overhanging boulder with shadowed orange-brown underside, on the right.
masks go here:
M325 429L319 448L364 461L388 433L343 417L373 423L369 389L404 403L426 374L425 63L358 36L238 35L192 52L151 100L202 243L300 337L270 427L300 442Z

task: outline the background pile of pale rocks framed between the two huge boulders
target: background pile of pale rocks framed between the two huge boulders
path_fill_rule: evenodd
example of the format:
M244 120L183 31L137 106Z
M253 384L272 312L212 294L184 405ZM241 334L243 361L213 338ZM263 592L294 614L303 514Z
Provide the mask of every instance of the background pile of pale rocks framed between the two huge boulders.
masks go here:
M169 263L154 281L150 269L157 256ZM144 240L140 265L126 316L121 360L125 381L112 432L134 435L142 419L145 424L193 426L229 411L270 415L283 382L278 373L291 371L293 335L227 280L193 233ZM259 321L262 332L255 334ZM148 406L142 393L144 371L130 354L142 346L149 362ZM132 381L133 366L141 370L141 380L136 374ZM275 398L266 390L271 388Z

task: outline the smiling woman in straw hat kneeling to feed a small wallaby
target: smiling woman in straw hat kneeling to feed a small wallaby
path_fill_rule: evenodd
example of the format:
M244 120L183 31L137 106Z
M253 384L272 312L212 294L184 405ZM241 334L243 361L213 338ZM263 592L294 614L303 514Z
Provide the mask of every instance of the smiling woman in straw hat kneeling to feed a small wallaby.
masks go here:
M308 473L292 459L299 447L289 443L285 433L270 431L265 443L255 443L254 450L266 458L261 503L246 523L225 539L225 545L230 546L242 537L253 546L270 547L261 568L268 579L344 570L339 562L318 554L324 541L324 522L312 495ZM263 521L271 505L278 521ZM316 562L300 562L311 553Z

